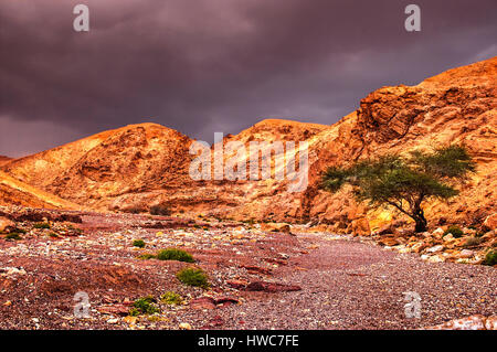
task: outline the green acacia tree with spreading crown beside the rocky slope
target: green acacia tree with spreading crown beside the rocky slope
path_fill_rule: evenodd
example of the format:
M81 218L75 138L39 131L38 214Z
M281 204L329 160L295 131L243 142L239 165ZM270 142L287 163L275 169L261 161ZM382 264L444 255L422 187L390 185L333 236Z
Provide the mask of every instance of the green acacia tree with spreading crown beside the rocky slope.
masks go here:
M348 168L331 167L324 173L321 186L337 192L351 184L359 202L393 206L414 220L416 232L425 232L423 202L447 201L457 195L454 185L475 169L466 147L453 145L432 152L413 151L408 157L387 154Z

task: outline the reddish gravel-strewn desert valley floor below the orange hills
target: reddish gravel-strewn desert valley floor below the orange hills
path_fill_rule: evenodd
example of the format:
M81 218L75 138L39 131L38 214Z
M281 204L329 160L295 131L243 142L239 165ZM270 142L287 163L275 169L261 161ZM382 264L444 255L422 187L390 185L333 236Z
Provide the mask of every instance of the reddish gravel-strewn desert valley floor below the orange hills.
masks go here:
M31 228L41 216L51 228ZM68 221L82 223L71 223ZM263 232L257 224L129 214L27 213L22 239L0 239L0 329L419 329L497 311L488 266L426 263L361 237ZM142 238L145 248L133 246ZM140 259L177 247L194 264ZM208 290L182 285L184 266L209 275ZM74 295L89 296L89 318ZM134 300L167 291L161 312L128 316ZM404 294L421 297L408 319Z

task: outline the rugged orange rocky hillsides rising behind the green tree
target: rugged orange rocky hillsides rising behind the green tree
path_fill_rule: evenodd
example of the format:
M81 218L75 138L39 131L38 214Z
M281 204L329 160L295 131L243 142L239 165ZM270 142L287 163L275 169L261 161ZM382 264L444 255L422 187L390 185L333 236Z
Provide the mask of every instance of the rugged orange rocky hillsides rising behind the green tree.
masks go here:
M477 173L448 204L426 204L434 221L480 222L497 212L497 57L447 71L417 86L383 87L332 126L263 120L224 142L303 141L309 145L309 185L287 192L287 181L193 181L192 142L154 124L106 131L54 150L8 162L3 170L45 191L99 210L211 213L240 220L332 224L337 231L377 228L398 214L358 205L347 190L319 190L331 164L463 142ZM248 158L250 153L245 157ZM243 158L243 157L242 157ZM284 158L276 152L276 160ZM273 162L275 163L275 161Z

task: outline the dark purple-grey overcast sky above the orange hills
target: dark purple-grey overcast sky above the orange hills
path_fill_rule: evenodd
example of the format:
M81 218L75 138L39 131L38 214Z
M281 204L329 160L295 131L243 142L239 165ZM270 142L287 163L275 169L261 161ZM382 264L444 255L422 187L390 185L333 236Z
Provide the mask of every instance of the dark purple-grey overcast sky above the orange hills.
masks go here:
M496 56L496 19L495 0L3 0L0 154L146 121L208 141L263 118L330 125L381 86Z

